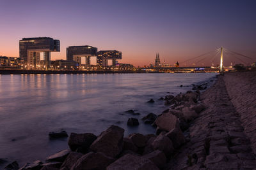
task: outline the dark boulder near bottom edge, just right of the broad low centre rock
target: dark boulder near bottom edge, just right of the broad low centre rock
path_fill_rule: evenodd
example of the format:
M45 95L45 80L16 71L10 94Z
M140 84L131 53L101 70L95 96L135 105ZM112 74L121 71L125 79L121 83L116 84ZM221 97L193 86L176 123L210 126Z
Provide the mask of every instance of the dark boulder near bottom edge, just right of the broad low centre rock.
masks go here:
M160 150L143 155L143 158L151 160L159 169L163 169L164 164L166 164L166 157Z

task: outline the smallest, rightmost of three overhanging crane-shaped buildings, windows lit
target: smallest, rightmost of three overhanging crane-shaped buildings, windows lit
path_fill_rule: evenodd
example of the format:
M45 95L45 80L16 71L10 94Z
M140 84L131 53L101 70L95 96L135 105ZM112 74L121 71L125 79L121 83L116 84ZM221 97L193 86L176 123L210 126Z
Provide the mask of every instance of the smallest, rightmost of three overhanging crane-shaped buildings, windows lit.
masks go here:
M108 60L112 60L112 66L116 66L116 59L122 59L122 52L116 50L99 51L97 55L98 66L108 66Z

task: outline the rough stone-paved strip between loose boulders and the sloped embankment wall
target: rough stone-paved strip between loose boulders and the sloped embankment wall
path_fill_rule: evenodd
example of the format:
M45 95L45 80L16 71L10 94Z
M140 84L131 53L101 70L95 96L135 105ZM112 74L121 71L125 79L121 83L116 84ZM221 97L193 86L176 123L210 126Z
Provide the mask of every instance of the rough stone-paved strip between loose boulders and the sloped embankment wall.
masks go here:
M200 97L206 110L189 128L189 142L167 169L253 169L255 155L223 76Z

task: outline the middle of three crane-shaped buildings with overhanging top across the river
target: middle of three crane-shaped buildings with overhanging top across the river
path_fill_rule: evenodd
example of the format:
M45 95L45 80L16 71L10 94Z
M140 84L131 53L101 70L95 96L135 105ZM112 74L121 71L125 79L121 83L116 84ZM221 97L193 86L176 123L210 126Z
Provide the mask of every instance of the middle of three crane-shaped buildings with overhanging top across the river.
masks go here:
M76 61L81 66L81 57L86 57L86 65L90 66L90 57L97 56L97 48L89 45L68 46L67 60Z

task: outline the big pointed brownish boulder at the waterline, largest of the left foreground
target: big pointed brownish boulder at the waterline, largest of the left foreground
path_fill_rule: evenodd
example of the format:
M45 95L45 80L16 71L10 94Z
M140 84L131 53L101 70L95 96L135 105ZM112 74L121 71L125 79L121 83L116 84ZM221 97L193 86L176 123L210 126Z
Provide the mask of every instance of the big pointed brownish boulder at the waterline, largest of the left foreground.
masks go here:
M123 136L124 129L111 125L92 143L90 149L94 152L102 152L109 157L116 157L122 151Z

